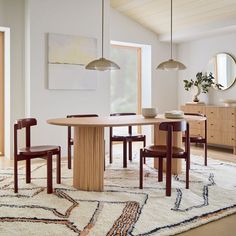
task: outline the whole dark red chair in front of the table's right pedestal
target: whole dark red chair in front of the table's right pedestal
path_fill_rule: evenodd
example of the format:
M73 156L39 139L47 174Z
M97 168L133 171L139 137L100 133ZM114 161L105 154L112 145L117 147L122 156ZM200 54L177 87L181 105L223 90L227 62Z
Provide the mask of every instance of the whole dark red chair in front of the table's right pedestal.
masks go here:
M190 167L190 139L189 124L186 121L162 122L159 125L161 131L166 131L166 145L151 145L140 149L140 173L139 188L143 188L143 159L152 157L158 158L158 181L163 179L163 159L166 158L166 196L171 196L171 160L182 158L186 160L186 188L189 188L189 167ZM185 148L173 146L173 132L185 132Z

